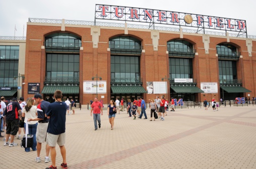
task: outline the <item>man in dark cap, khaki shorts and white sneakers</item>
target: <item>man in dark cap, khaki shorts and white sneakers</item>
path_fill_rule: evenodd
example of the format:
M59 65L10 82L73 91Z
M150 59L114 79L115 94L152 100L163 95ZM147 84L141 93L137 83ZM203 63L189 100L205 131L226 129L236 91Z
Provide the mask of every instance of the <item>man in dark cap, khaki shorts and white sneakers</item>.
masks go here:
M37 105L37 117L36 118L28 118L28 121L38 121L37 128L36 128L36 152L37 157L35 159L36 162L41 162L40 152L42 148L42 143L46 140L47 135L47 127L49 119L46 117L45 113L47 111L47 107L50 104L48 101L43 100L43 96L40 93L34 95L33 98ZM49 153L50 153L50 146L46 144L45 146L46 156L44 162L49 162Z

